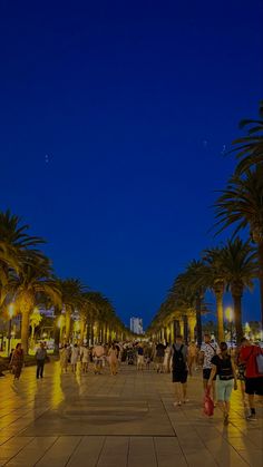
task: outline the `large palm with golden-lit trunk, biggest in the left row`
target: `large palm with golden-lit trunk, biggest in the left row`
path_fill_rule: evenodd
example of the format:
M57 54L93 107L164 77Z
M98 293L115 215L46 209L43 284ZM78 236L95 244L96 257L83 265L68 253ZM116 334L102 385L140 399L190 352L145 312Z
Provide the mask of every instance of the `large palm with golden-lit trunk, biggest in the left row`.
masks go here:
M29 319L35 307L42 296L48 296L53 304L60 302L60 292L51 273L48 259L28 252L25 263L19 266L19 274L11 271L3 289L4 299L16 301L21 312L21 342L26 353L28 353Z

